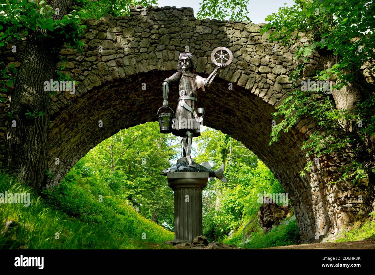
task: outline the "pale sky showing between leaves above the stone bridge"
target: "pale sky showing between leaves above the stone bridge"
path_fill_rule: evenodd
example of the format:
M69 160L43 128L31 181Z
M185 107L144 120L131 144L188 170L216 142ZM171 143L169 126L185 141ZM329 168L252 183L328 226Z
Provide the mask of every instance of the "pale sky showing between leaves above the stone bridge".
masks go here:
M194 16L199 10L199 3L201 0L157 0L157 6L176 6L176 7L192 7L194 10ZM279 7L284 6L287 3L288 6L294 4L293 0L249 0L248 4L248 16L250 20L255 23L264 23L267 15L277 12Z

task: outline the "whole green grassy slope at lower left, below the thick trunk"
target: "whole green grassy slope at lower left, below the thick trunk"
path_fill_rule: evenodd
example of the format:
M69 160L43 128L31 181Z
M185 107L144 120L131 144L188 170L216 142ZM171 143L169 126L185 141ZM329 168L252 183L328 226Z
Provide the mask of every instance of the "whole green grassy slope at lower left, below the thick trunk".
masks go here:
M41 198L30 187L0 172L0 193L30 193L31 201L29 207L0 204L0 248L164 248L167 246L158 243L174 238L172 232L142 217L110 190L101 190L103 202L99 202L87 184L67 182L60 186L64 187L49 198ZM9 220L17 221L17 225L1 233Z

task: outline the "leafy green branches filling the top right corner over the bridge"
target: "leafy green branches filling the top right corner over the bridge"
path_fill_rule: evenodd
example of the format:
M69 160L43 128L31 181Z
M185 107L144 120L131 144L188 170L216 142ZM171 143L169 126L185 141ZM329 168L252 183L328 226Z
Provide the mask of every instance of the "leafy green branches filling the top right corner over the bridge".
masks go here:
M301 33L306 34L308 43L301 46L297 58L308 56L317 48L332 51L340 58L328 73L334 73L342 85L355 82L357 76L349 69L356 71L375 59L374 1L296 0L295 3L267 16L266 21L270 23L262 32L273 28L269 38L284 45L293 45ZM374 62L368 66L374 72Z

